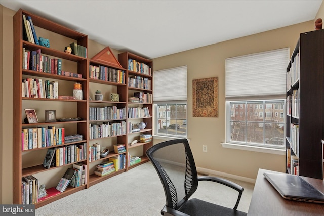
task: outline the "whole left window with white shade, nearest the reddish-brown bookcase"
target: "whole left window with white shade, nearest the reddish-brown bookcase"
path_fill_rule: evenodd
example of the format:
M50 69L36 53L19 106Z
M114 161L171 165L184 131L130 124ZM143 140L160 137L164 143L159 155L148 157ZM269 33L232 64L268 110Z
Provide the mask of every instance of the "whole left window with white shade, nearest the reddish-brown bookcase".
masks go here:
M154 71L154 135L187 137L187 66Z

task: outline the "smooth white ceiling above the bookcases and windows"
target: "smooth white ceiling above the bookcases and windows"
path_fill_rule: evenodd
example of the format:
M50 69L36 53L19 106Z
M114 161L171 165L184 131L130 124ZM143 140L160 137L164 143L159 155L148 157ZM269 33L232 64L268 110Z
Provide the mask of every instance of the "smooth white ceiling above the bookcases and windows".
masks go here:
M322 0L0 0L156 58L313 20Z

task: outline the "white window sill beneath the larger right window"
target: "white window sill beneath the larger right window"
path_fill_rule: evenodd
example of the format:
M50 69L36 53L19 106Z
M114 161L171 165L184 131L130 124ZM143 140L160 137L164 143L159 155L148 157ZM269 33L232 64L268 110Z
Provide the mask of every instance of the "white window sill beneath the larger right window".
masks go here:
M233 143L221 143L221 144L223 148L240 149L240 150L262 152L268 154L286 155L285 149L275 149L275 148L267 148L267 147L260 147L260 146L247 146L247 145L240 145L240 144L233 144Z

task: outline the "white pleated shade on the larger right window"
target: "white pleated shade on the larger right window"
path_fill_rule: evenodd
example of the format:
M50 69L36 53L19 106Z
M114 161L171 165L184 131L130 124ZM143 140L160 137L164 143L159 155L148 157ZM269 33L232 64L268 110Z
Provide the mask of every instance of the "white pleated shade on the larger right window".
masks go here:
M226 100L286 98L289 48L226 59Z

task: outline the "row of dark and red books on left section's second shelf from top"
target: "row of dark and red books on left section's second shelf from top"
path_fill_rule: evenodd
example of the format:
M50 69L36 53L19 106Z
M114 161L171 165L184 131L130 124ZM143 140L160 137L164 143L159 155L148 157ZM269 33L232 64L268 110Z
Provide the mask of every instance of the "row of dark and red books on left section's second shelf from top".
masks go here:
M51 73L62 76L82 78L82 74L62 70L62 59L51 58L42 54L42 50L22 49L22 69Z

